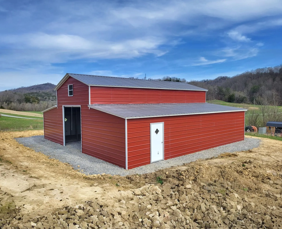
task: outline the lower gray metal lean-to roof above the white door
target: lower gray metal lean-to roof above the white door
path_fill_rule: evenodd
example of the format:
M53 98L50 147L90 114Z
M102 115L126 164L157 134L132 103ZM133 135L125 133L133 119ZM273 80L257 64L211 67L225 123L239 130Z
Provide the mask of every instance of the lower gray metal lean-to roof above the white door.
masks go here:
M246 109L243 108L211 103L97 104L89 105L89 107L122 118L161 117L246 111Z

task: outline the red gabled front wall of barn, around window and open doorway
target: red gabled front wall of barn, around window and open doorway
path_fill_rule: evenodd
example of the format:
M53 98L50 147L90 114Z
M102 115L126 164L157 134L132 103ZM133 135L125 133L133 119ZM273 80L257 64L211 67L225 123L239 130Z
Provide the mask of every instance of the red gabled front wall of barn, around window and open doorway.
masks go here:
M73 85L73 96L68 96L69 84ZM80 105L82 153L125 168L125 120L94 109L89 110L89 86L72 77L58 89L57 96L58 108L44 113L47 120L46 123L44 120L45 138L63 144L62 106Z

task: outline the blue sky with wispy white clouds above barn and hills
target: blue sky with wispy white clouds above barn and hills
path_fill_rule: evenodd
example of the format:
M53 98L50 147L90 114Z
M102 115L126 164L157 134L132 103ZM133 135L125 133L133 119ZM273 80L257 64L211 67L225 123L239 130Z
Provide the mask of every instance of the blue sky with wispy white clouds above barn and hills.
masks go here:
M0 0L0 91L65 73L189 80L282 64L281 0Z

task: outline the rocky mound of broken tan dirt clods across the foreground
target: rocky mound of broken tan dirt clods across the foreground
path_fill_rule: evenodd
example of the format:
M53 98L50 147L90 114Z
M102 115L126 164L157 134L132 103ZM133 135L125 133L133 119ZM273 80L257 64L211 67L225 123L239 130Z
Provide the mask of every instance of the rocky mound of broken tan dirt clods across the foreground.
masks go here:
M98 198L37 215L1 201L5 228L281 228L281 181L252 195L241 184L168 179L122 193L114 204ZM123 191L121 191L123 192ZM258 194L258 192L256 192ZM123 197L122 197L123 196Z

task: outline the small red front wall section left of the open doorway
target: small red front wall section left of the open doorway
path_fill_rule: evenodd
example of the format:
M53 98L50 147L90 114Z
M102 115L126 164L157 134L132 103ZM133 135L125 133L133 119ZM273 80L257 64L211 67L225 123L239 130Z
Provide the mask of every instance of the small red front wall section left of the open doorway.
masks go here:
M43 113L44 138L63 145L63 123L60 117L57 108Z

